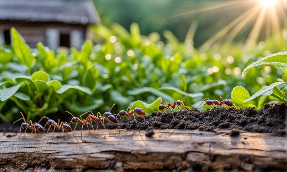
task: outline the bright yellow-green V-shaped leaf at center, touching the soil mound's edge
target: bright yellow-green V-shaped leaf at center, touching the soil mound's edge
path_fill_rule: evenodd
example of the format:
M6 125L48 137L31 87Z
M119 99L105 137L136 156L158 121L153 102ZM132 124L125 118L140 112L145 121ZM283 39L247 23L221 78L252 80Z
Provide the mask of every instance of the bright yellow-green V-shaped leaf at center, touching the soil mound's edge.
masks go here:
M137 100L133 102L132 109L139 107L146 112L146 115L151 114L154 111L158 110L158 106L160 105L161 97L158 97L154 102L148 104L144 101Z

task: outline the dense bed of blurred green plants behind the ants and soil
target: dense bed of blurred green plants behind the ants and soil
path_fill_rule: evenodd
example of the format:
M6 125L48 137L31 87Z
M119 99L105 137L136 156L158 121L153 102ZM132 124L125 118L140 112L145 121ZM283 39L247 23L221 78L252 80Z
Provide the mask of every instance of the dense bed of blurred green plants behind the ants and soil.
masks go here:
M11 122L23 111L28 119L47 114L61 118L65 110L112 113L142 105L157 110L159 97L172 103L193 93L184 102L196 108L204 99L230 98L232 88L242 85L250 94L281 78L282 71L266 65L243 69L268 54L286 50L286 41L270 38L261 45L222 45L198 52L165 31L167 44L156 32L142 36L133 23L130 33L119 24L92 26L97 44L87 40L81 50L60 47L57 52L38 43L25 44L11 29L11 46L0 46L0 117ZM280 85L279 85L280 86ZM280 87L280 89L283 89ZM157 100L157 101L156 101ZM272 101L269 96L265 102ZM259 97L253 99L259 101ZM208 106L206 106L208 108ZM260 108L260 106L257 106ZM94 112L95 114L96 112ZM17 115L14 115L17 114Z

